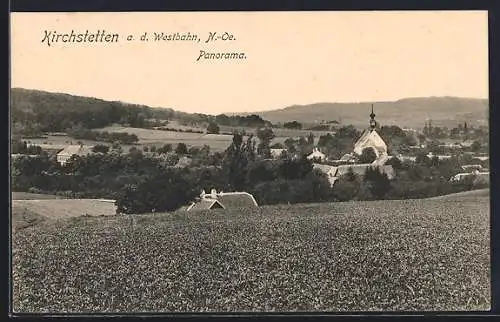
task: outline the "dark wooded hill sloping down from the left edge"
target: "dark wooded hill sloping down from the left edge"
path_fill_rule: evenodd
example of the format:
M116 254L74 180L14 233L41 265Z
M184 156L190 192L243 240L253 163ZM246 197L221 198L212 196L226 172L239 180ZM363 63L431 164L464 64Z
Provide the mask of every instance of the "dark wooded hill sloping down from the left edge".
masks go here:
M10 98L13 133L22 135L65 132L74 127L95 129L112 124L150 128L163 126L165 120L203 128L211 121L216 121L219 125L249 127L260 127L268 123L256 115L216 117L203 113L181 112L172 108L24 88L11 89Z

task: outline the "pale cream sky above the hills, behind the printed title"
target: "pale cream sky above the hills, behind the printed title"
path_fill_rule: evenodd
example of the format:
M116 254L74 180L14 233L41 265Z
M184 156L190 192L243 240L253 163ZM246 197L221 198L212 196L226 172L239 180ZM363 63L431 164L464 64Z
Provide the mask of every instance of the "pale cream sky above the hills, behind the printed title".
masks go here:
M487 19L486 11L12 13L11 86L206 114L488 98ZM42 41L46 31L72 30L119 38ZM201 41L153 41L154 32ZM234 39L205 43L209 32ZM246 58L196 61L200 51Z

